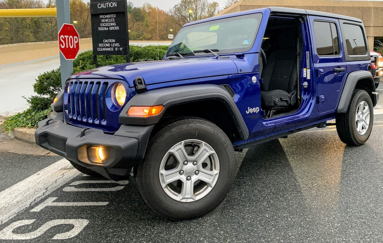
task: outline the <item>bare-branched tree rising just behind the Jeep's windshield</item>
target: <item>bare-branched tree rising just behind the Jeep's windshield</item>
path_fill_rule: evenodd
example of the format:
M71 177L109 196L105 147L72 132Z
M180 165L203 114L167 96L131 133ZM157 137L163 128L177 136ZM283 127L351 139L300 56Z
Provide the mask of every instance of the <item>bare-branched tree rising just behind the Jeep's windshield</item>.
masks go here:
M216 15L219 11L217 2L209 3L207 0L181 0L170 11L178 25L182 26L191 21L202 20Z

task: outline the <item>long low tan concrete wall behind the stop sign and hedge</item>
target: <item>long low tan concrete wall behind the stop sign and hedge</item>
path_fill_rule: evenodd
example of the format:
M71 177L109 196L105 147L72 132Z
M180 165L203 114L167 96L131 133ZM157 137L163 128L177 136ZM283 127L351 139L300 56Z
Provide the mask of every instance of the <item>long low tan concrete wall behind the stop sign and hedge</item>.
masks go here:
M129 44L147 45L170 45L172 41L129 41ZM80 51L92 49L92 38L80 39ZM59 55L58 41L43 41L31 43L17 43L0 45L0 65L15 62L25 62Z

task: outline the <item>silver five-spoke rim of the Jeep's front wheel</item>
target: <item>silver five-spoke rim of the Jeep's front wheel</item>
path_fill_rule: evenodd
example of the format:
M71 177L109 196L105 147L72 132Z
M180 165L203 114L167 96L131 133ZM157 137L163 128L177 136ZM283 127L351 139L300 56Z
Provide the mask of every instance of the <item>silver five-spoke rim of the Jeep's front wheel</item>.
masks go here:
M194 202L213 189L219 176L219 160L204 141L183 140L162 158L159 179L162 189L174 200Z

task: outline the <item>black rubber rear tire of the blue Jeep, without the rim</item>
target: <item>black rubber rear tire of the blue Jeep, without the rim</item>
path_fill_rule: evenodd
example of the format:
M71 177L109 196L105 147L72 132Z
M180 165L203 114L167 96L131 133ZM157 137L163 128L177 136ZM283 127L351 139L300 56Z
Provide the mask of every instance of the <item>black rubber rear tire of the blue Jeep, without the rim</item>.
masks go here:
M355 122L355 115L358 109L358 105L362 101L367 102L370 109L370 123L368 129L364 135L360 135L357 131L357 125ZM346 113L338 113L336 115L336 130L338 132L340 140L351 146L360 146L364 144L370 137L372 125L374 121L373 105L370 95L365 90L354 90L352 94L349 107Z

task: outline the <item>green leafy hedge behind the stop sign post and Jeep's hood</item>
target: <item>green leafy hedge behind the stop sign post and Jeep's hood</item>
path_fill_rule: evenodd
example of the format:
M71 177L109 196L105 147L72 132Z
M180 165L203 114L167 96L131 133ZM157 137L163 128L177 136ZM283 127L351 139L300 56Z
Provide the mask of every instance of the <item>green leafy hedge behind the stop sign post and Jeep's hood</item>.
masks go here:
M130 46L131 62L141 61L142 59L162 59L169 46ZM125 63L125 56L98 56L99 66L106 66L118 63ZM80 53L73 61L73 73L83 72L94 69L93 52L85 51ZM25 98L29 103L29 108L17 115L8 117L4 121L3 127L6 131L17 127L36 128L37 123L47 117L51 112L50 104L61 90L61 72L60 69L40 74L33 84L33 90L37 95Z

